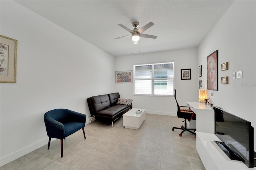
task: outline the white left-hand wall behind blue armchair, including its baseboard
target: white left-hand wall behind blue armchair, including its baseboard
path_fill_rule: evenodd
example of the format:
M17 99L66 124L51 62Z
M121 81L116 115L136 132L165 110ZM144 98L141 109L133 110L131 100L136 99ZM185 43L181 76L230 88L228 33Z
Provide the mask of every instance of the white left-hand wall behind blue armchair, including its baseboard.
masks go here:
M98 47L14 1L1 1L0 25L18 40L17 83L1 83L2 166L48 143L47 111L90 116L86 98L116 91L115 59Z

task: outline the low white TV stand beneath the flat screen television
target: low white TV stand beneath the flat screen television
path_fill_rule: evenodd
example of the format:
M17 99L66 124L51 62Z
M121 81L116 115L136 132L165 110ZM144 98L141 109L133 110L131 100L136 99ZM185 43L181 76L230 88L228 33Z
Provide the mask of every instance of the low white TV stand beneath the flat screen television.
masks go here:
M196 132L196 150L206 170L255 170L243 162L230 160L214 142L220 141L215 134Z

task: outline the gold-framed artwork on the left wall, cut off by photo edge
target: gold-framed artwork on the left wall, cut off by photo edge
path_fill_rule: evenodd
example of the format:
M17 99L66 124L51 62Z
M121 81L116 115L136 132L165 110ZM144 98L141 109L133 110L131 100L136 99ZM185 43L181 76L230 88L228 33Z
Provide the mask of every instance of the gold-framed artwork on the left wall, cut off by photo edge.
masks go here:
M17 40L0 35L1 83L16 83Z

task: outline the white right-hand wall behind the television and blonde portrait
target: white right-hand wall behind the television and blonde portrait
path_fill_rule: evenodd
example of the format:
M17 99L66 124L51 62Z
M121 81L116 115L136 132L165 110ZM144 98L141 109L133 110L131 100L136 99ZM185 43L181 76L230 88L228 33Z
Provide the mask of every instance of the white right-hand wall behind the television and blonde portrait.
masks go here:
M203 67L206 89L206 57L218 49L218 91L210 102L252 122L256 136L256 1L235 1L198 47L198 65ZM228 70L221 64L228 62ZM232 73L243 71L241 79ZM228 76L228 85L221 77ZM198 79L198 80L199 80ZM208 91L208 93L211 91ZM254 138L256 147L256 138Z

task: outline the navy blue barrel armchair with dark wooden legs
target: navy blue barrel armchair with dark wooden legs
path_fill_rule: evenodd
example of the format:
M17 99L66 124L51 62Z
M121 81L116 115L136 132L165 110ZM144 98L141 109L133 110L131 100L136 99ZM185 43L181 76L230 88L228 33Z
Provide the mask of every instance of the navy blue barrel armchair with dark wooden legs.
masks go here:
M54 109L44 114L44 123L49 136L48 149L51 138L60 139L61 157L63 157L63 139L82 128L84 133L86 115L68 109ZM84 133L84 139L85 133Z

